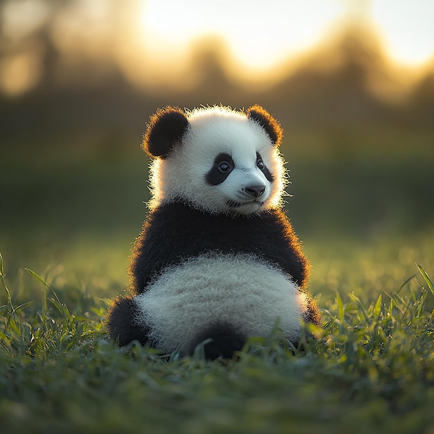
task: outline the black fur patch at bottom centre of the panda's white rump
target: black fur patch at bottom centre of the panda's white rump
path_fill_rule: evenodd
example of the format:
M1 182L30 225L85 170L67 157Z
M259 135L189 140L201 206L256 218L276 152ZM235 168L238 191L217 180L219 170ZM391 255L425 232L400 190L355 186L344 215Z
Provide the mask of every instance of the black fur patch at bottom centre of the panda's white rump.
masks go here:
M247 337L236 331L231 324L218 322L196 336L189 348L189 354L193 354L196 346L205 340L209 340L204 345L205 357L214 360L219 357L232 358L235 351L243 349Z

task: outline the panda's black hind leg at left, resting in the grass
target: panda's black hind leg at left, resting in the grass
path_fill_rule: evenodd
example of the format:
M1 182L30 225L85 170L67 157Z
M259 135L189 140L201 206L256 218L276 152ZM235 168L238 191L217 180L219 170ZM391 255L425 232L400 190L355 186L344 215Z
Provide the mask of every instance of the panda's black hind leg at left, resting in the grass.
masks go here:
M134 299L117 297L108 311L105 321L110 338L119 339L119 345L128 345L138 340L142 345L148 342L148 329L136 320L137 304Z

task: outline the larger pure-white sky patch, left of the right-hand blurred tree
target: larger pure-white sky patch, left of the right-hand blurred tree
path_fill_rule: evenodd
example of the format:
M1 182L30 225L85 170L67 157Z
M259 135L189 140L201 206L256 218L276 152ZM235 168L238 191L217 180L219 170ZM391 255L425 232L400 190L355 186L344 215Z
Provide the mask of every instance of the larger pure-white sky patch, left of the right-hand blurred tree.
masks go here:
M344 11L335 0L148 0L142 37L161 57L179 54L200 35L220 35L243 66L269 69L320 42Z

